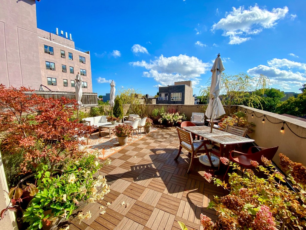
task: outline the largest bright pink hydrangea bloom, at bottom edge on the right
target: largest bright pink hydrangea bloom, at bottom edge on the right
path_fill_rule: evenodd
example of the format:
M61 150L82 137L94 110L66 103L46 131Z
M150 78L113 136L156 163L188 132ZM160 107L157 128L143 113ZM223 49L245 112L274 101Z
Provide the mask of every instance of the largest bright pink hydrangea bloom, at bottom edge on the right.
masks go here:
M270 208L266 205L260 207L259 211L256 213L253 224L255 229L277 230Z

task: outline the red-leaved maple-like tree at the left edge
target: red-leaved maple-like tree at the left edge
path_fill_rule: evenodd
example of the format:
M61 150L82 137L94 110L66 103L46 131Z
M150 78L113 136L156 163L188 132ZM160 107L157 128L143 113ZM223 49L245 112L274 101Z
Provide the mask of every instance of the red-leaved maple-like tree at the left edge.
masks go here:
M91 126L71 120L76 100L42 98L30 88L6 88L0 84L1 147L9 154L22 152L23 173L35 171L40 164L50 169L67 159L79 158L79 137L89 134ZM37 114L37 115L36 115Z

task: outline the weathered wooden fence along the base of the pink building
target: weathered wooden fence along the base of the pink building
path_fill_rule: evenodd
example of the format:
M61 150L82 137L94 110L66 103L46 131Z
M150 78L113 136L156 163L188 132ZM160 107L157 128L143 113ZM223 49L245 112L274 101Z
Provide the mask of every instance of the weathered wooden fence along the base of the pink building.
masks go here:
M64 91L33 91L28 92L26 95L37 94L43 98L53 98L53 99L60 99L61 97L65 97L67 99L75 99L76 93L75 92L64 92ZM83 93L81 102L84 106L88 105L98 105L98 94L97 93Z

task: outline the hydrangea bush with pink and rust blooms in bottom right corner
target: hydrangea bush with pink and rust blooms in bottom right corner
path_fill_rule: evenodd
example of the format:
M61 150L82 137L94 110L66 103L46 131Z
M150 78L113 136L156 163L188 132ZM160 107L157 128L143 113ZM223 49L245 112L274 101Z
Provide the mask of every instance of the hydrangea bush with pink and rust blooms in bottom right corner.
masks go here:
M218 219L214 223L205 215L200 216L204 229L305 229L306 228L306 167L294 163L280 154L280 165L287 171L288 179L293 183L293 191L285 183L285 176L277 171L270 160L262 157L262 162L252 161L255 171L264 174L259 178L251 169L241 170L236 163L220 159L237 171L243 171L246 177L237 173L229 174L229 184L211 174L205 178L214 184L229 190L224 197L215 196L209 208L217 211ZM265 167L263 166L265 165Z

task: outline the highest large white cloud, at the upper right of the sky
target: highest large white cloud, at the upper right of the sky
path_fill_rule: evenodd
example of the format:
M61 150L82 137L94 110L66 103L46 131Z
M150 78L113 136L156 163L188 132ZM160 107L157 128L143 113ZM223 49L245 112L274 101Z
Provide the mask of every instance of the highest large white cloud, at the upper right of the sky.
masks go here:
M271 11L259 9L257 5L250 6L247 10L243 6L233 7L225 18L212 26L212 31L223 30L223 36L229 36L229 44L240 44L250 40L250 35L258 34L263 29L271 28L279 19L288 13L288 7L273 8Z

